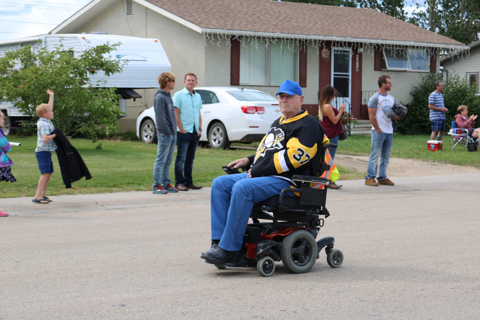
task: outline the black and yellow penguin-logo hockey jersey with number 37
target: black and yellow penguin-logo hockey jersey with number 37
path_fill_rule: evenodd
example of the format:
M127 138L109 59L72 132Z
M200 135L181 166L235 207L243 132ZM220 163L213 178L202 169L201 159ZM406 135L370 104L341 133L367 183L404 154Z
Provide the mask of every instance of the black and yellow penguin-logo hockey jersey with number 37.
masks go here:
M252 178L275 176L291 181L293 175L318 176L324 130L304 109L285 120L276 119L249 158Z

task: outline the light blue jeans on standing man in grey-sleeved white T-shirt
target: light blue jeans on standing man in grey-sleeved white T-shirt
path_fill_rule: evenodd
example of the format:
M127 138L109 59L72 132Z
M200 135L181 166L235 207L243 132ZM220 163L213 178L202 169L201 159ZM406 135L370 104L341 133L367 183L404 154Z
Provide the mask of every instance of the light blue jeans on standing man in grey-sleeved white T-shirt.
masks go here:
M378 133L372 130L372 151L368 159L367 175L365 179L375 178L377 176L377 162L380 157L380 172L378 173L378 180L385 180L387 178L387 166L390 161L390 154L392 153L392 133Z

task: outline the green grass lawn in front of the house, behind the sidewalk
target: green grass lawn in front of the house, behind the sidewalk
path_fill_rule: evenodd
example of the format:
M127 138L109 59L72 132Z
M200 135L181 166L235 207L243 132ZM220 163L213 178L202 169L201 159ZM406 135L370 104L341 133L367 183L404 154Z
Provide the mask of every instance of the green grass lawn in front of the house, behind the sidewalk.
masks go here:
M36 137L8 138L12 142L21 142L22 145L12 146L12 152L9 153L14 162L12 173L17 182L2 183L0 198L33 196L40 177L35 157ZM450 142L447 139L444 139L443 151L430 152L427 151L427 140L428 136L395 135L392 156L480 167L478 152L466 152L460 148L450 151ZM103 140L101 141L103 148L96 150L96 143L90 140L72 139L71 142L82 155L93 178L88 181L85 179L76 181L72 184L72 189L65 189L56 155L53 154L55 172L47 189L48 195L151 190L156 145L140 141ZM370 137L350 136L347 140L339 142L338 154L368 155L370 148ZM215 177L224 174L221 166L251 154L252 150L245 149L214 150L199 147L193 167L194 182L209 187ZM342 180L361 179L364 176L364 172L355 169L340 166L338 169ZM173 164L170 178L172 180L175 178Z

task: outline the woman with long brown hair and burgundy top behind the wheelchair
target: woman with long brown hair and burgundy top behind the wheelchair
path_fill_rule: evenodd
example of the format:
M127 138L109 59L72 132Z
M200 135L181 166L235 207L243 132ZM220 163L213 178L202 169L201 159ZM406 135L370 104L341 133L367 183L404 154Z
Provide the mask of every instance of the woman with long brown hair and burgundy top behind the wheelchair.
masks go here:
M337 91L331 85L325 85L322 93L320 94L320 100L318 101L318 119L320 124L324 128L325 135L330 140L330 143L338 145L338 135L343 133L340 118L345 110L345 104L341 105L339 110L331 105L332 100L336 97ZM336 149L329 148L328 152L335 158ZM342 186L337 185L335 182L328 185L331 189L338 189Z

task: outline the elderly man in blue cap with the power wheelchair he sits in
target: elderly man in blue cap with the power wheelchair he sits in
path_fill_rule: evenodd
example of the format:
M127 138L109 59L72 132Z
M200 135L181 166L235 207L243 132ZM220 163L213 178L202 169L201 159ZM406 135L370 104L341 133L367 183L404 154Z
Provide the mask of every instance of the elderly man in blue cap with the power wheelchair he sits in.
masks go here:
M343 262L341 251L333 249L333 237L315 242L324 222L319 215L329 215L324 188L328 176L324 177L333 168L323 163L328 140L301 108L298 83L285 81L277 95L282 117L256 154L224 166L229 174L212 183L212 247L201 258L219 269L256 265L260 274L269 276L275 271L274 261L283 261L290 272L306 273L324 247L330 266ZM239 168L248 172L240 173ZM249 218L253 223L248 224Z

